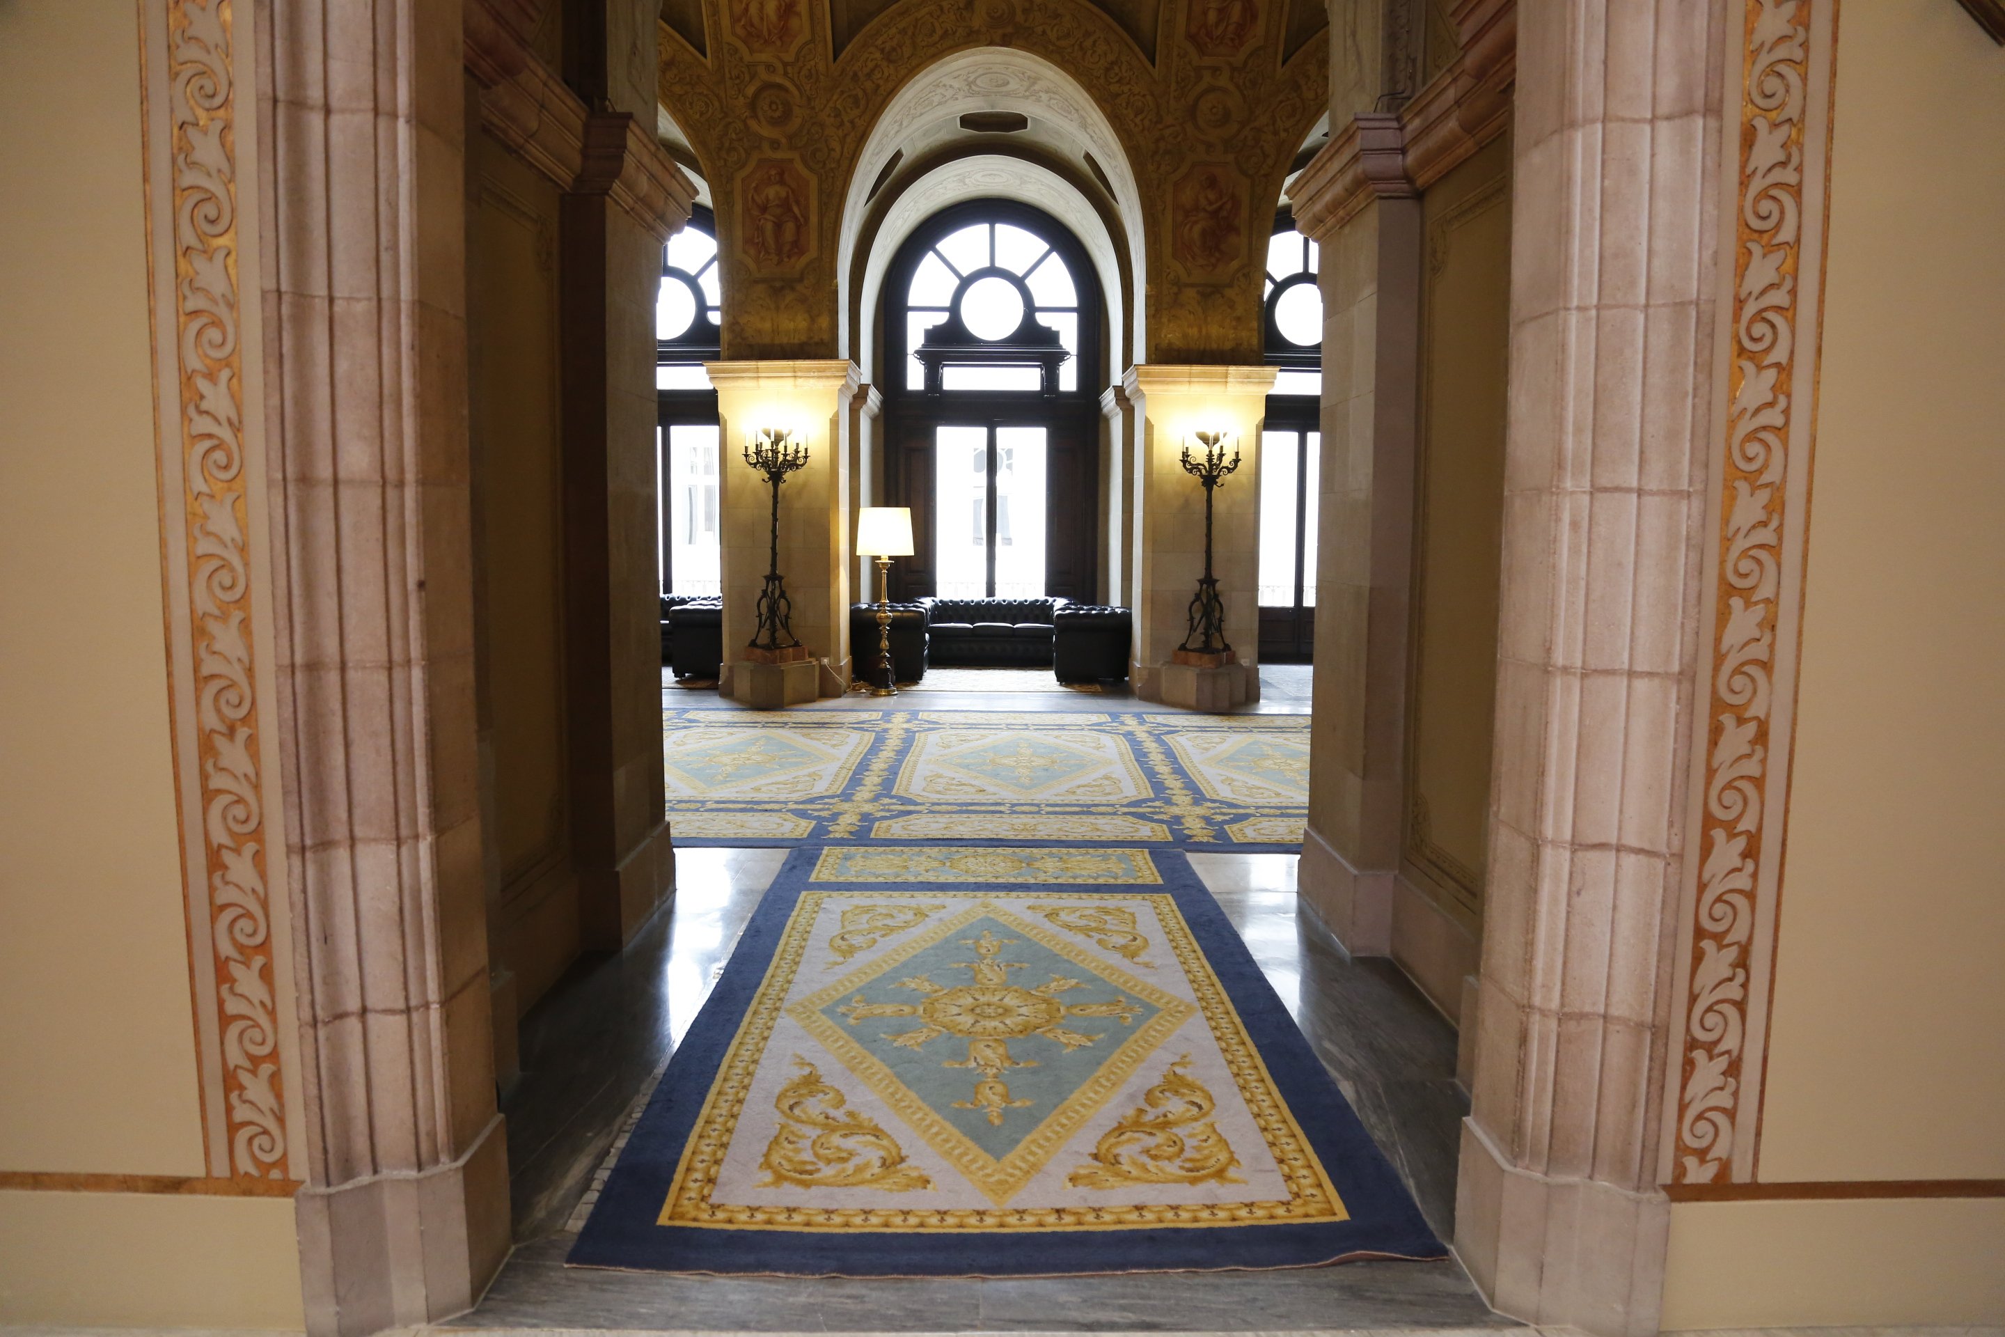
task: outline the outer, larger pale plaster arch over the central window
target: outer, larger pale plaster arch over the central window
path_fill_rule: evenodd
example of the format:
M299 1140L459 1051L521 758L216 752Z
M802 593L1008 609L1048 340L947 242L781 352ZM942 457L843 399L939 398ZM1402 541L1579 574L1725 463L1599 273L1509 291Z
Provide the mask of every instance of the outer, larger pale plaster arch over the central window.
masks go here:
M898 152L918 130L936 124L940 120L952 120L964 112L1021 112L1025 116L1035 116L1047 124L1059 138L1071 142L1081 154L1091 152L1101 170L1107 172L1107 182L1113 186L1115 210L1121 218L1121 229L1127 233L1125 247L1129 253L1129 273L1135 277L1135 307L1123 313L1123 319L1131 321L1131 341L1137 357L1141 349L1147 347L1143 341L1143 289L1147 269L1143 267L1143 212L1141 212L1141 190L1135 184L1135 170L1129 166L1127 150L1121 146L1121 136L1115 134L1113 124L1109 124L1107 114L1099 108L1079 80L1051 64L1041 56L1029 52L1011 50L1002 46L978 46L974 50L964 50L954 56L946 56L932 66L920 70L912 80L898 90L878 116L876 124L870 128L870 138L864 140L862 154L856 158L856 168L850 174L850 186L842 200L842 233L836 251L836 285L838 285L838 329L836 337L840 349L850 359L862 361L864 353L858 343L858 331L852 329L852 285L856 283L856 245L862 237L864 216L868 212L870 186L876 182L878 172L890 162L890 156ZM1015 162L1015 158L982 158L984 162ZM952 168L960 168L972 158L954 162ZM942 170L952 170L942 168ZM1063 182L1053 172L1043 172L1045 178L1053 182ZM930 176L928 176L930 180ZM1031 176L1019 176L1019 182L1029 182ZM918 186L906 194L916 192ZM1099 214L1087 204L1085 196L1071 184L1065 184L1071 198L1085 206L1087 214L1093 216L1091 227L1081 227L1069 214L1071 206L1053 208L1041 200L1029 198L1027 202L1051 208L1053 214L1067 220L1067 227L1079 235L1091 249L1089 235L1107 235ZM982 194L996 194L994 188ZM974 198L972 194L960 194L954 198ZM902 204L904 200L900 200ZM954 202L944 198L934 204L942 208ZM928 210L932 212L932 210ZM872 253L882 243L882 239L892 229L878 229L878 241L872 243ZM906 229L910 233L910 229ZM1109 241L1109 249L1113 243ZM886 255L888 259L888 255ZM1099 265L1099 259L1095 259ZM1109 301L1119 299L1119 287L1109 285L1107 275L1101 275L1103 289ZM874 301L874 293L864 295L860 311L870 311L868 305ZM1113 315L1115 307L1109 307ZM868 321L866 321L868 327ZM1121 325L1111 325L1117 333ZM1119 337L1115 347L1121 347ZM1119 357L1115 359L1119 361ZM1115 367L1115 375L1121 367Z

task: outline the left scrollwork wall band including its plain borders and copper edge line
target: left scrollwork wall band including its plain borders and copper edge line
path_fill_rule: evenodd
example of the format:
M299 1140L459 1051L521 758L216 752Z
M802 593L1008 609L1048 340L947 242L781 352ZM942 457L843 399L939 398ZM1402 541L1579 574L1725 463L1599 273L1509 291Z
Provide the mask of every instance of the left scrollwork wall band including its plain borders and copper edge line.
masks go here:
M211 1175L289 1181L249 535L233 0L146 22L148 231L162 583L174 688L196 1052ZM158 74L156 74L158 72Z

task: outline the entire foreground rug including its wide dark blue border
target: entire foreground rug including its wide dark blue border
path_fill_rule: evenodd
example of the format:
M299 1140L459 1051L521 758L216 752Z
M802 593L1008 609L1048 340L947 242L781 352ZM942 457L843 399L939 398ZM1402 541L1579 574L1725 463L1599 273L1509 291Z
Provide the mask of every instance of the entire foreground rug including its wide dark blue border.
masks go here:
M1021 1277L1444 1257L1175 850L796 850L585 1267Z

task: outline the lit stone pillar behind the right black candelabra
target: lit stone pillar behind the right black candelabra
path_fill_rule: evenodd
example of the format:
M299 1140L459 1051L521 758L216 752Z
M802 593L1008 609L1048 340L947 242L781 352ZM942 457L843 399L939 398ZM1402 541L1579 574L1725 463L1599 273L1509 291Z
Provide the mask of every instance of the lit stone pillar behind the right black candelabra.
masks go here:
M1259 433L1273 367L1131 367L1123 385L1141 415L1135 457L1135 649L1129 680L1149 702L1223 710L1259 700ZM1193 431L1227 431L1239 469L1213 497L1211 569L1237 659L1177 663L1191 597L1205 571L1205 489L1183 471Z

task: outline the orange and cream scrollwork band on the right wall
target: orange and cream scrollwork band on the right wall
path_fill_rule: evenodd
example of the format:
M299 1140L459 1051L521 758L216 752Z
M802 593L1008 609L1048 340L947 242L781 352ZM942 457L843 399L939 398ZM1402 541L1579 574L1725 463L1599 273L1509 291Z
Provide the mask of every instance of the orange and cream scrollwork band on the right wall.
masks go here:
M1722 451L1660 1177L1754 1179L1817 411L1835 0L1744 0L1722 162ZM1728 275L1722 275L1726 279Z

